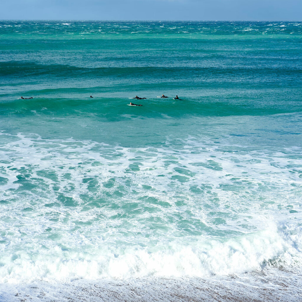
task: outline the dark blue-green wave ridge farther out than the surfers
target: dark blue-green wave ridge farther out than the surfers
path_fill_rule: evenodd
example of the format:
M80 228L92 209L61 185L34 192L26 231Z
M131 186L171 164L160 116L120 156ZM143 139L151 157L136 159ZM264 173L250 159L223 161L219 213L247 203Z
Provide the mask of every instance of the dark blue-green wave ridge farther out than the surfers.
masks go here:
M146 77L146 76L162 76L177 74L178 76L187 74L188 76L230 76L241 75L249 77L253 74L261 73L278 75L300 76L300 68L259 68L259 67L238 67L229 68L220 66L219 68L207 67L159 67L159 66L144 66L144 67L76 67L70 65L42 65L34 62L19 62L9 61L0 63L2 76L125 76L125 77Z

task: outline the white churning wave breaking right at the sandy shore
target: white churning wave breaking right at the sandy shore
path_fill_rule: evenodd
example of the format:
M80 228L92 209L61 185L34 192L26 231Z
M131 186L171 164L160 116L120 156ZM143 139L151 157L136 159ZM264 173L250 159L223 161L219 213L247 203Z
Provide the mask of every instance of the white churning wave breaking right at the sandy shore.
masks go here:
M105 247L100 247L98 252L92 247L77 252L76 248L60 244L47 249L36 246L39 252L34 254L25 250L14 252L11 257L2 254L0 281L22 284L35 280L68 282L78 278L240 274L261 271L264 267L299 266L302 258L297 246L301 253L301 228L287 228L285 233L279 233L276 226L227 240L199 239L194 245L172 241L166 246L157 246L156 252L129 247L117 255Z

